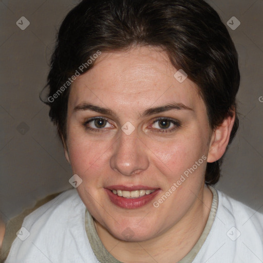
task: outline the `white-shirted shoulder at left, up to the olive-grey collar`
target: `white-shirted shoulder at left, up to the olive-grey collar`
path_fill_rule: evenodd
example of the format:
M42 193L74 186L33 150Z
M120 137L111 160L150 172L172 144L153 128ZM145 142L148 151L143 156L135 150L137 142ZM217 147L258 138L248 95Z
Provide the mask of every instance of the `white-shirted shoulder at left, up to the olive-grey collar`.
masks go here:
M25 217L6 262L97 262L85 231L85 211L76 189L42 205Z

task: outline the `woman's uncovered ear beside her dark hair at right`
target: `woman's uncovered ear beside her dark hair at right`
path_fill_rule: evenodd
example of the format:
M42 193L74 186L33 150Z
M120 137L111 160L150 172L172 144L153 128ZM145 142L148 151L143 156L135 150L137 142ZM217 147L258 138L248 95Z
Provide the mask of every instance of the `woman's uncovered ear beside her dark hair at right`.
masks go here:
M228 116L214 130L209 147L208 162L215 162L220 159L228 146L231 130L235 122L235 112L233 116Z

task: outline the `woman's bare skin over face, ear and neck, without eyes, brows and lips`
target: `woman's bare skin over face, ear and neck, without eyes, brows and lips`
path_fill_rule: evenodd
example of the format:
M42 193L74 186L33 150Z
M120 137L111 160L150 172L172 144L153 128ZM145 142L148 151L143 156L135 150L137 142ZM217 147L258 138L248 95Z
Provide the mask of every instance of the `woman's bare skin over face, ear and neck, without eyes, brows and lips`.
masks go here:
M160 49L134 47L102 53L95 66L71 86L66 158L73 173L83 180L77 190L95 218L99 237L122 262L180 260L195 245L209 216L212 193L204 184L206 161L214 162L226 151L234 117L212 131L198 87L189 78L179 83L174 78L176 71ZM192 110L141 116L148 108L175 102ZM109 108L116 115L74 110L83 103ZM94 121L87 123L94 117L108 118L102 131ZM156 121L159 117L179 121L180 126L168 122L163 129ZM121 129L127 121L135 128L130 135ZM88 130L85 123L99 132ZM153 201L202 156L206 161L155 208ZM110 185L160 190L141 208L124 209L109 200L105 188Z

